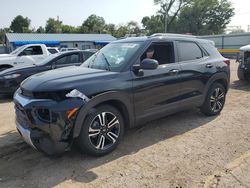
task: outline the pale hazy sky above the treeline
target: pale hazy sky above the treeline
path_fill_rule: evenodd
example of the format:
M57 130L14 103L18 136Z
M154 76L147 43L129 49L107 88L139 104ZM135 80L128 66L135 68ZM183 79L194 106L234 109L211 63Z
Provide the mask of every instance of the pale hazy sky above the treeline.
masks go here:
M231 0L236 15L229 25L250 25L250 0ZM64 24L79 26L91 14L104 17L107 23L138 23L153 15L157 6L153 0L4 0L0 9L0 28L8 27L16 15L27 16L31 26L45 26L49 17L59 16Z

